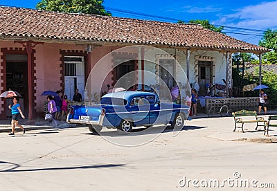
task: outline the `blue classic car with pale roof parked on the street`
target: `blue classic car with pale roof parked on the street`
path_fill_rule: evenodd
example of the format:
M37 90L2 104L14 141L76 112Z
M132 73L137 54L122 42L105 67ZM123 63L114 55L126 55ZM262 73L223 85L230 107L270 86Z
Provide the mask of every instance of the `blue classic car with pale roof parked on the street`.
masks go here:
M120 91L102 96L100 104L72 106L66 122L87 124L89 130L96 133L102 127L129 132L136 126L168 123L181 129L188 111L189 107L184 104L160 102L154 93Z

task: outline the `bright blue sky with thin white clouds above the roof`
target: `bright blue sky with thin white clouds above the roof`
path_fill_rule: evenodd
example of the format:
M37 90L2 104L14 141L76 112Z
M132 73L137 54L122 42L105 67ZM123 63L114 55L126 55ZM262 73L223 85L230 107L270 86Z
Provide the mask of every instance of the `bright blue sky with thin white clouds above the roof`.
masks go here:
M35 8L38 2L39 0L0 0L0 5ZM107 10L110 8L110 12L115 17L170 22L175 22L174 20L190 21L191 19L208 19L212 24L218 26L235 27L226 27L226 35L251 44L258 44L262 31L267 28L277 29L277 1L105 0L104 6ZM121 10L128 10L129 13L123 13ZM140 17L139 15L133 14L136 12L143 13L144 16ZM157 15L173 20L151 16L146 17L145 15ZM251 30L242 30L240 28Z

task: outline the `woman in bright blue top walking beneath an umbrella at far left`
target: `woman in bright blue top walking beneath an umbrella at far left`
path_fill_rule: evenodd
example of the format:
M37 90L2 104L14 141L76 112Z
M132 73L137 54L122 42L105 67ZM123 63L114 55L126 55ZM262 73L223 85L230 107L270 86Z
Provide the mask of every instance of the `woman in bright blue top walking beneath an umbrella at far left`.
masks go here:
M20 104L18 103L19 98L18 97L13 98L12 102L13 104L9 105L9 108L12 110L12 132L9 135L15 134L15 126L22 129L23 133L25 134L25 129L18 123L19 115L21 115L22 118L25 118L24 114L20 109Z

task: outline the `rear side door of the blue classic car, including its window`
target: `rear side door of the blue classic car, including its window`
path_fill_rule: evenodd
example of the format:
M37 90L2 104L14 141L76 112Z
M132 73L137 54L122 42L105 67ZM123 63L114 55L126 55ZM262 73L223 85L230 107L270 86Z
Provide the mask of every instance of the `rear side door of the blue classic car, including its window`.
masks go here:
M129 104L129 113L134 121L134 125L149 124L150 104L145 96L134 97Z

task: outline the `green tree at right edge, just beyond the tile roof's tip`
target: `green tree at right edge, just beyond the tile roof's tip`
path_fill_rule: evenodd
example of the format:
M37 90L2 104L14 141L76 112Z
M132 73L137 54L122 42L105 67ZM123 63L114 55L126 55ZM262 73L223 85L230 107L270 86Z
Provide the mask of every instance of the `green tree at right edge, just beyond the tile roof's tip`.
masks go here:
M277 30L267 29L259 45L272 50L266 53L263 58L267 60L269 64L277 64Z

